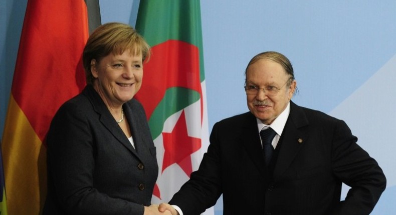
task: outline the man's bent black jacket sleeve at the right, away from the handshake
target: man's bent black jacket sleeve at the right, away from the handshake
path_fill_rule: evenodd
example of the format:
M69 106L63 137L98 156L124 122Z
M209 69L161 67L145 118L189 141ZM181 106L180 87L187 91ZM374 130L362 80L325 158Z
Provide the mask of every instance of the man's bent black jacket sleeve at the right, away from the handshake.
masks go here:
M351 188L331 214L369 214L385 189L382 169L356 141L346 123L337 120L332 141L333 173Z

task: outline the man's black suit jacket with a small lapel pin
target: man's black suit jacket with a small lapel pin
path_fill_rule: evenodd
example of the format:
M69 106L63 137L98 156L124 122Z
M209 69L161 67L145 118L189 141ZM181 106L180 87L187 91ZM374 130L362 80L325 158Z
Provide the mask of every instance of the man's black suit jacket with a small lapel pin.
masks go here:
M199 169L169 201L200 214L223 194L224 214L369 214L385 188L377 162L344 121L290 102L270 167L257 121L243 113L216 123ZM341 182L351 186L340 201Z

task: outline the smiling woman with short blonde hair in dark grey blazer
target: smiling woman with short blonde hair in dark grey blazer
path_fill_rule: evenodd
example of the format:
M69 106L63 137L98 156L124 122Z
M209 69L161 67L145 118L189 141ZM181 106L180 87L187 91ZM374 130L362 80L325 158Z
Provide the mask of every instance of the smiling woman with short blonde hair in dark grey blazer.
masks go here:
M155 146L133 99L150 47L129 25L107 23L83 52L87 86L65 102L47 135L44 214L157 214Z

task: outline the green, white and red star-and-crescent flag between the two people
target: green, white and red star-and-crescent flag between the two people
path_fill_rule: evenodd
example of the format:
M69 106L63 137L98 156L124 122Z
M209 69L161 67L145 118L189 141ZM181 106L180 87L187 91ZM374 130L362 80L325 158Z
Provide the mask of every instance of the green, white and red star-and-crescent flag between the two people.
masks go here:
M153 203L166 202L209 145L200 1L140 1L136 30L152 47L136 98L157 148Z

